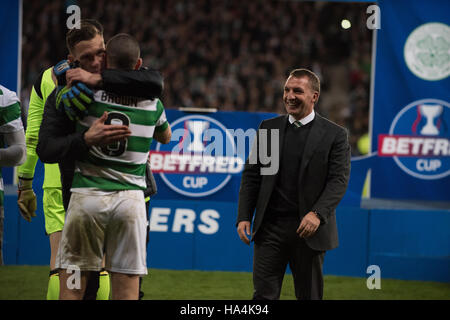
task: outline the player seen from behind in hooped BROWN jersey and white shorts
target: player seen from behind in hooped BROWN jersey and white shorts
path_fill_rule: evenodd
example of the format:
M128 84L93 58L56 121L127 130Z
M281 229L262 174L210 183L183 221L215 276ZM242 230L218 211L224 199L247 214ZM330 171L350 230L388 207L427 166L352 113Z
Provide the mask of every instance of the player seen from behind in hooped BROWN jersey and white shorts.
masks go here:
M109 68L139 69L142 64L137 41L119 34L106 46ZM127 125L128 138L112 145L93 146L75 163L72 196L67 210L57 266L81 270L79 290L61 285L61 299L80 299L86 272L102 268L111 274L113 299L138 299L139 276L147 274L147 218L143 190L148 150L153 137L168 143L171 130L164 107L153 100L119 97L105 91L94 92L88 115L78 120L84 131L98 119L105 124ZM65 284L70 273L61 272Z

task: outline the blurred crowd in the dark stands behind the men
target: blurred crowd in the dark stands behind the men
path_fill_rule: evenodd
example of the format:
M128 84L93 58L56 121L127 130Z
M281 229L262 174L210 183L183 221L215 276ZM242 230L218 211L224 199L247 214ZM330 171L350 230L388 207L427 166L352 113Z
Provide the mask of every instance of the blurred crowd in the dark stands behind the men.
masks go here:
M95 18L105 40L129 33L144 65L164 76L166 108L284 113L288 73L321 78L316 110L350 132L352 154L368 131L372 31L367 3L266 0L23 2L22 101L38 74L67 56L68 5ZM341 20L352 26L344 30ZM360 143L361 144L361 143Z

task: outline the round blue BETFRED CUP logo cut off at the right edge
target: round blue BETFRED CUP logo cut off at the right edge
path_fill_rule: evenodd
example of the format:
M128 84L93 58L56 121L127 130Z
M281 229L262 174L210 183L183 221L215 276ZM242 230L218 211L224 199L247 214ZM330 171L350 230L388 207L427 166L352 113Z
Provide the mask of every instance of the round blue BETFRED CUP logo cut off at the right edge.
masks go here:
M407 174L426 180L450 174L450 104L414 101L394 118L389 134L378 136L378 155L393 157Z

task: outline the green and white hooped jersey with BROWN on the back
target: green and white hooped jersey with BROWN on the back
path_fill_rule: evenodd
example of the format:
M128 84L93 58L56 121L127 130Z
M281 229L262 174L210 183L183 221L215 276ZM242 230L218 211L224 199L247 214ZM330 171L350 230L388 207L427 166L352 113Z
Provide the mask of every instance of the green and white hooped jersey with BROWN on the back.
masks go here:
M105 111L105 124L125 124L131 136L105 147L91 147L87 157L77 161L72 192L139 190L146 188L145 170L153 133L169 126L159 99L141 100L94 92L95 102L88 116L77 122L77 131L90 127Z

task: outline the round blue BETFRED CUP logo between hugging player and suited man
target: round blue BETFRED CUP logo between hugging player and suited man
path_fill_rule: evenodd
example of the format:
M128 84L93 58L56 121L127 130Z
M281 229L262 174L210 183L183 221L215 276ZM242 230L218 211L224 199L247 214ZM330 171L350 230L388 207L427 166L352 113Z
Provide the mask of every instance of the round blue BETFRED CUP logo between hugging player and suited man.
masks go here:
M173 191L205 197L221 190L244 167L234 136L219 121L192 115L171 124L172 140L150 152L153 173Z

